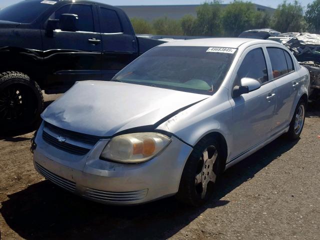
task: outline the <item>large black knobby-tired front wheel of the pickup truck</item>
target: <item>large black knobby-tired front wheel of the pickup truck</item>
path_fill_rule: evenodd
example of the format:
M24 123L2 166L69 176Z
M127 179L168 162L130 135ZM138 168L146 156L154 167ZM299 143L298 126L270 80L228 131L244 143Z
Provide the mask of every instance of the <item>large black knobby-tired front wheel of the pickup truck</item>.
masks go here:
M30 78L16 71L0 74L0 125L3 133L33 127L40 119L43 95Z

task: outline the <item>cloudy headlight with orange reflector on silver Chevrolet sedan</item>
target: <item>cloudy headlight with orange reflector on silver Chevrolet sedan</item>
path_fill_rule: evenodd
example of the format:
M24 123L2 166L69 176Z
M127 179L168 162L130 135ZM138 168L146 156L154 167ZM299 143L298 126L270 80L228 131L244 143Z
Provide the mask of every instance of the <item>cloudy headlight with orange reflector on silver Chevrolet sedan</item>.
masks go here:
M171 141L157 132L130 133L113 137L104 147L101 158L122 163L150 160Z

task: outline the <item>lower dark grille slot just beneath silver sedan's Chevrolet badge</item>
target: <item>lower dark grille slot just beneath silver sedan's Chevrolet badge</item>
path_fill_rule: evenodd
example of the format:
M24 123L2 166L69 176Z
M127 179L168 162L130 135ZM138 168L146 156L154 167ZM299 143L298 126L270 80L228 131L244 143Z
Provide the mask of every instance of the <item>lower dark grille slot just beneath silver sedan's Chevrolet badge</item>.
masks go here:
M75 154L75 155L85 155L90 150L90 149L87 149L84 147L72 145L70 143L59 142L54 136L51 136L49 133L47 133L44 130L42 131L42 138L48 144L50 144L60 150L67 151L67 152Z

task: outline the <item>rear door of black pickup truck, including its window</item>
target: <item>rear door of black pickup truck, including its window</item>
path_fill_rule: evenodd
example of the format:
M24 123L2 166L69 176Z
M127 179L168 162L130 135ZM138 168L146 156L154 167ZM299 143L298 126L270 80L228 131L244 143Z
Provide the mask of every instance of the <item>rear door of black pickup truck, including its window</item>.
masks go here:
M98 10L102 39L102 80L110 80L137 57L138 47L124 12L116 11L111 6L100 6Z

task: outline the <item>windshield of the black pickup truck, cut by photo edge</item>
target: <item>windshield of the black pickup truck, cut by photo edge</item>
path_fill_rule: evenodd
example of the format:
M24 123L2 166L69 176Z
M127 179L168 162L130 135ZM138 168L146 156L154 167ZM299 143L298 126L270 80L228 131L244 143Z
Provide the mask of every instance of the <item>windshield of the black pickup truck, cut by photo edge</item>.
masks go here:
M0 20L31 23L56 1L24 0L0 10Z

